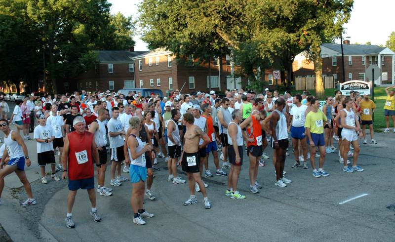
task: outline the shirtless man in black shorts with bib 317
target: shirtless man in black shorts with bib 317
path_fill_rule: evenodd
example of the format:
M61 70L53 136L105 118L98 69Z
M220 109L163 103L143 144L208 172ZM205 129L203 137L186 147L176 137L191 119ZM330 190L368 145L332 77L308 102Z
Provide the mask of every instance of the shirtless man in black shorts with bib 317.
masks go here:
M209 142L210 138L204 133L197 125L194 124L195 118L190 113L183 115L184 125L187 127L184 139L184 150L181 155L181 160L178 161L178 165L182 164L182 170L187 172L189 191L191 193L190 198L184 202L184 205L188 206L197 203L195 195L195 182L198 184L199 189L204 198L204 208L211 208L211 203L208 201L206 188L201 180L199 173L199 149L204 148ZM203 139L203 143L199 145L199 140Z

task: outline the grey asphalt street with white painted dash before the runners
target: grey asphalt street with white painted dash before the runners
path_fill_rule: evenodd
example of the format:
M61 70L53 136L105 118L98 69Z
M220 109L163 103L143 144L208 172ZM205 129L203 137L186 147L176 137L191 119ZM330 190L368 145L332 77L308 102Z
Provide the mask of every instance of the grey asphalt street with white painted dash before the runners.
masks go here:
M108 166L106 186L114 189L114 195L97 196L102 221L93 222L87 193L79 190L73 208L75 229L66 228L64 221L67 181L55 182L48 178L48 184L40 183L36 142L30 140L26 145L33 162L26 173L38 203L20 206L26 200L25 191L16 175L9 175L5 178L0 223L16 242L395 241L394 138L392 132L378 133L377 145L360 141L358 164L365 169L363 172L343 172L337 153L328 154L324 168L330 175L320 178L312 176L310 162L307 170L290 167L294 163L290 147L285 170L292 183L285 188L276 187L272 160L266 160L266 166L259 167L258 181L263 189L258 194L249 192L249 162L244 153L238 188L246 199L232 200L225 196L227 177L203 178L209 184L207 194L212 202L211 209L203 208L200 193L197 193L197 204L184 206L183 202L189 197L187 183L167 182L166 163L158 159L161 170L155 172L152 187L157 199L146 198L144 204L155 216L145 219L144 226L132 222L131 184L123 182L120 187L110 186ZM265 152L272 157L271 148ZM211 171L215 170L212 156L209 166ZM181 169L179 173L186 178Z

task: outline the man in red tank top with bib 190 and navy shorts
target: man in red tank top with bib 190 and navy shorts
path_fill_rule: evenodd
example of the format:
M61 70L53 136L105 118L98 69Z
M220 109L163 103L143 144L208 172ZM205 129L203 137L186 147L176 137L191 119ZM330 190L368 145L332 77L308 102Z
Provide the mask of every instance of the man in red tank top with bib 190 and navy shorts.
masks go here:
M95 142L93 142L93 134L86 131L85 126L85 120L81 116L74 119L73 127L76 130L67 134L62 153L62 179L69 177L69 195L67 197L65 219L68 228L74 228L75 226L71 212L78 189L87 190L92 205L90 214L93 221L101 221L96 209L93 172L93 160L96 161L96 166L100 167L99 153Z

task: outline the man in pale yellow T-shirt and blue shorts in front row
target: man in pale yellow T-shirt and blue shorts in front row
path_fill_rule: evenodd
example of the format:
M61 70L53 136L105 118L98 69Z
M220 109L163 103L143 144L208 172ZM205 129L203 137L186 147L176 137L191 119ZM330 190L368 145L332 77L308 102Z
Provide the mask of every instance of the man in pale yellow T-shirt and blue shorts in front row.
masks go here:
M325 160L325 139L324 139L324 123L328 120L325 114L319 109L319 100L313 98L311 101L312 111L306 115L305 129L307 137L309 138L309 144L311 146L310 161L313 167L313 176L321 177L328 176L329 173L322 169ZM316 169L316 162L314 158L316 156L316 148L319 148L319 166Z

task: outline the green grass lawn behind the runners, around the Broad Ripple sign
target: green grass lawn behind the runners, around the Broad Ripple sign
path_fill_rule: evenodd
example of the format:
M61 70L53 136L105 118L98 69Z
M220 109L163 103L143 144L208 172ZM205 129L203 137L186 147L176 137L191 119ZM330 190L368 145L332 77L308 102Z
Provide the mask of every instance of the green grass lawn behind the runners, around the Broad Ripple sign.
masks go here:
M325 89L326 96L333 96L336 89ZM316 94L316 90L309 90L312 95ZM293 91L298 93L300 91ZM371 98L371 97L370 97ZM376 103L376 110L374 112L374 130L382 132L382 128L386 127L386 121L384 116L384 103L387 95L385 87L374 87L374 102ZM390 127L393 127L392 120L390 119Z

